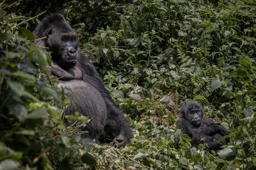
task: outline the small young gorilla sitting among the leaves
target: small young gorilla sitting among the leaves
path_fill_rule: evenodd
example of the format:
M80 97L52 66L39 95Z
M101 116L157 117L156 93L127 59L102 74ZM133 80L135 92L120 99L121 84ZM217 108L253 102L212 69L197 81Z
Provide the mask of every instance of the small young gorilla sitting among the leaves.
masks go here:
M206 143L209 150L219 150L220 146L228 143L228 138L222 141L219 139L229 132L210 118L204 117L200 104L186 103L182 106L180 114L181 118L177 121L177 126L184 134L188 134L192 146L197 147L200 143Z

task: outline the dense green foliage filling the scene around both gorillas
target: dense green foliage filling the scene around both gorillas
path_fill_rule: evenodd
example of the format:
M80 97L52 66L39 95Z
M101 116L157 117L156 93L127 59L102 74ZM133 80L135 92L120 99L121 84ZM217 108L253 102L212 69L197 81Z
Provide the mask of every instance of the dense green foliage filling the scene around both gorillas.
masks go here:
M0 169L83 169L82 162L97 169L255 169L255 1L53 2L1 4ZM28 31L37 20L29 15L44 10L67 17L127 115L134 138L125 148L87 153L88 141L63 124L49 55ZM202 103L231 132L223 150L191 148L177 129L187 101Z

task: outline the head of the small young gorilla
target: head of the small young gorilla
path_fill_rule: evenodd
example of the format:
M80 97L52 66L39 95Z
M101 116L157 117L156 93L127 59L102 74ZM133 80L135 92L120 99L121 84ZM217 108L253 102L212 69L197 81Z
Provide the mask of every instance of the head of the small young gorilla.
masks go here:
M191 125L199 127L204 115L203 108L196 102L189 102L182 106L180 113L183 118L186 118Z

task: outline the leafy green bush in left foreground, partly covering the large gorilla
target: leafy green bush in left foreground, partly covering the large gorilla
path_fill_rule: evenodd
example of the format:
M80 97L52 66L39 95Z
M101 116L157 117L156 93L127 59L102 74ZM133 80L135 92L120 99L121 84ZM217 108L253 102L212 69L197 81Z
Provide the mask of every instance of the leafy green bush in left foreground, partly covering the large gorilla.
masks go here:
M84 160L90 143L62 121L59 108L68 101L49 75L51 57L33 44L28 21L4 8L9 6L2 3L0 10L0 169L74 169L92 163Z

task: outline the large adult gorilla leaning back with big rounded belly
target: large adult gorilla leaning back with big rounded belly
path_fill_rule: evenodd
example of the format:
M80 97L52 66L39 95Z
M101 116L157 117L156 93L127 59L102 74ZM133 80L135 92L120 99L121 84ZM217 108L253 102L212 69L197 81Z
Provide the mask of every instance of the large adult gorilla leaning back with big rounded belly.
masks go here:
M118 147L124 146L132 138L131 128L122 110L118 108L104 88L103 81L93 64L77 50L76 32L65 18L52 13L43 18L34 31L36 43L51 52L51 74L59 78L58 87L66 90L72 106L65 110L66 115L78 111L91 121L83 130L88 131L84 138L99 142L102 132L113 139Z

